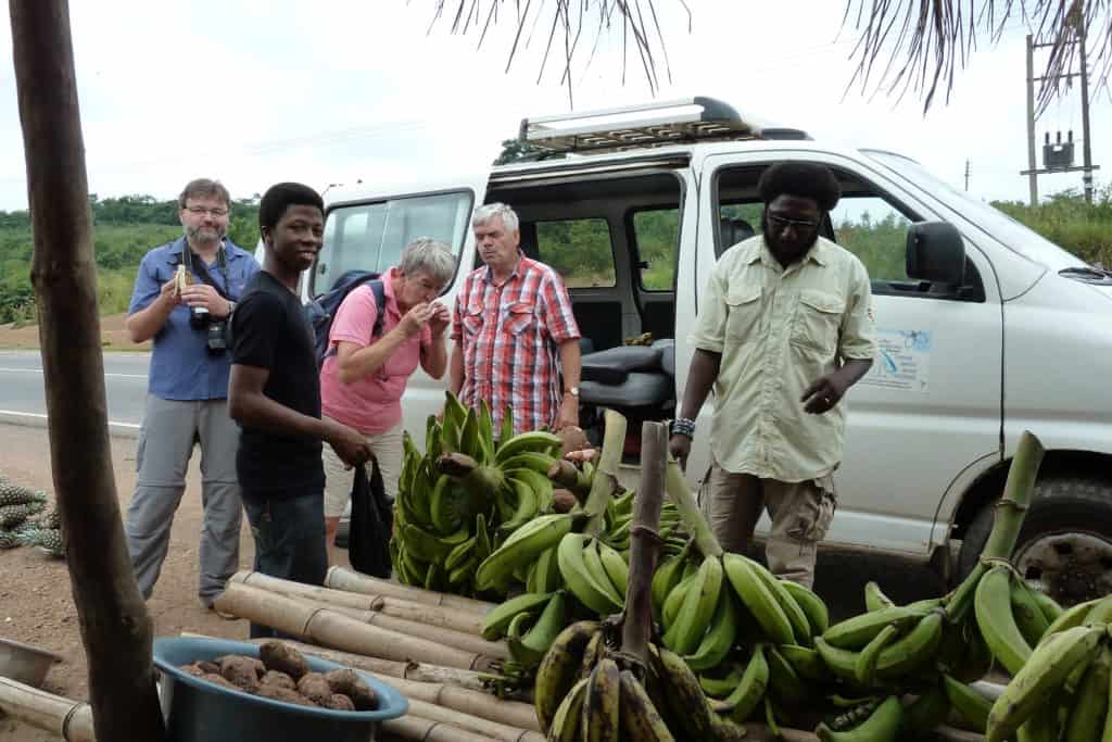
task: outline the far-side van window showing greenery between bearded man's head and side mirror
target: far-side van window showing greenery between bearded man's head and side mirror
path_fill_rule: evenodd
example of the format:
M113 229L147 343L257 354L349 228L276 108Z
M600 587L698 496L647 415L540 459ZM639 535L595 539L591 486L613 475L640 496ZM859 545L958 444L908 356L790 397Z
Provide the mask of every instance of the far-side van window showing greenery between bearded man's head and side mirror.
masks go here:
M835 241L856 255L874 281L905 281L911 219L876 196L843 196L831 211Z

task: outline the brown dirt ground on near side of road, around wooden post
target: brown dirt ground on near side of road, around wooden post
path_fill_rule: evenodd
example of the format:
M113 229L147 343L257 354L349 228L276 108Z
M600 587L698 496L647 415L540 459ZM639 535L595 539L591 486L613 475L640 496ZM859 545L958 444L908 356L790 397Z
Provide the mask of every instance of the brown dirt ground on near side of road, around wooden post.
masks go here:
M0 425L0 474L12 482L53 491L50 447L44 428ZM121 512L135 488L135 447L129 438L112 438L112 468ZM186 494L170 534L170 552L147 607L156 636L182 631L225 639L247 639L246 621L225 621L197 601L197 540L201 526L199 455L193 457ZM244 518L240 533L241 568L250 568L254 543ZM341 558L347 552L339 552ZM37 548L0 551L0 636L34 644L62 657L51 667L43 690L72 700L88 700L85 650L70 590L66 562ZM52 734L0 718L0 740L46 742Z

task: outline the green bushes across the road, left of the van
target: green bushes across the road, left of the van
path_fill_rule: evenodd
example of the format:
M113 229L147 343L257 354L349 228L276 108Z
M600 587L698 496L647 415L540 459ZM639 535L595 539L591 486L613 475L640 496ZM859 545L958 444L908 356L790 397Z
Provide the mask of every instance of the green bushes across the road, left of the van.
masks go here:
M177 200L151 196L100 199L90 194L97 294L102 315L126 311L139 260L152 248L181 235ZM259 238L258 198L231 206L228 237L254 249ZM31 289L31 222L27 211L0 211L0 323L26 323L34 316Z

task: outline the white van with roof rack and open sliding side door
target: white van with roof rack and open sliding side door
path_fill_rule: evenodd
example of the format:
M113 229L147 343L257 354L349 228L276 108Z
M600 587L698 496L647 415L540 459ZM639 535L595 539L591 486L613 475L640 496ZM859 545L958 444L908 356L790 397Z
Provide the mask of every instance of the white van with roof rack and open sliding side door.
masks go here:
M325 247L305 296L348 269L385 270L407 241L430 236L459 256L441 297L450 307L478 265L473 209L512 205L526 254L567 283L585 379L592 352L644 333L655 340L639 367L596 368L598 380L582 392L585 427L604 405L631 419L635 483L639 421L674 416L714 263L759 229L761 172L780 160L822 162L843 190L824 235L868 269L880 340L845 403L838 511L823 547L963 574L989 533L1019 436L1031 429L1048 453L1019 567L1060 601L1112 592L1112 274L913 160L762 127L714 99L526 119L520 137L540 155L406 188L329 190ZM421 372L410 380L405 421L418 444L444 389ZM713 404L692 449L693 485L707 468Z

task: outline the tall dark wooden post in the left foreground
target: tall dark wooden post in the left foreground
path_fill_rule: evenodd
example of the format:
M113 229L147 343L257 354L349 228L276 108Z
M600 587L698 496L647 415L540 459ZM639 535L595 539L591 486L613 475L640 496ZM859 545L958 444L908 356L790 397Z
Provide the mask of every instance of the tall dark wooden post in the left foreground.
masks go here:
M34 235L50 462L101 740L165 738L151 623L131 574L112 475L69 7L9 0Z

